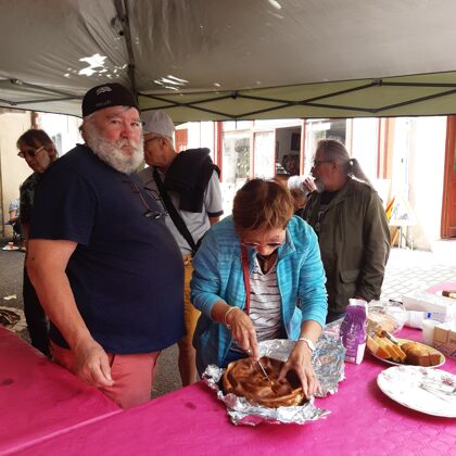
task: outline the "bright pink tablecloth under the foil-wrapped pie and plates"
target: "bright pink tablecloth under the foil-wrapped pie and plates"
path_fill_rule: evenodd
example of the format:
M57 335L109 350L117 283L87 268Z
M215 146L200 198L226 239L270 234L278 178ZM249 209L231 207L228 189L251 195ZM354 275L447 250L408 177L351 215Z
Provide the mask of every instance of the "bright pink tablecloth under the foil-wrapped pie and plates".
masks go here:
M421 331L402 337L420 340ZM456 420L401 406L377 387L390 367L370 355L346 365L339 392L317 400L331 410L305 426L235 427L202 383L27 448L29 455L455 455ZM444 369L456 373L448 359Z

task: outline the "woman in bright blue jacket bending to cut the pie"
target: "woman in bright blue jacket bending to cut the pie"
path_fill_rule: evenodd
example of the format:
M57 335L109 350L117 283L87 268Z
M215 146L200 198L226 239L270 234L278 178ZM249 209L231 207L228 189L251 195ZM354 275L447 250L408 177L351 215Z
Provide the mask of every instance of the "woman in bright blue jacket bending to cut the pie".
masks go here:
M327 314L325 271L314 230L293 216L281 185L253 179L236 194L232 216L214 225L193 259L191 297L202 312L193 344L200 373L253 356L257 342L296 344L281 377L295 370L306 395L318 390L311 364Z

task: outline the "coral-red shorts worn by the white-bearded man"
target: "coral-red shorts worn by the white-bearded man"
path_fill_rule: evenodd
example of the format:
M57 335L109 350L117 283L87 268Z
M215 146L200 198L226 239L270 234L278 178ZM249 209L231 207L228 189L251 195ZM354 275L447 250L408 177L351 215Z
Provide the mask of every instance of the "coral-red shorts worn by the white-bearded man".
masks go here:
M51 342L51 353L56 363L75 372L75 357L69 350ZM122 408L134 407L150 401L159 355L160 352L135 355L107 353L114 384L99 388L99 390Z

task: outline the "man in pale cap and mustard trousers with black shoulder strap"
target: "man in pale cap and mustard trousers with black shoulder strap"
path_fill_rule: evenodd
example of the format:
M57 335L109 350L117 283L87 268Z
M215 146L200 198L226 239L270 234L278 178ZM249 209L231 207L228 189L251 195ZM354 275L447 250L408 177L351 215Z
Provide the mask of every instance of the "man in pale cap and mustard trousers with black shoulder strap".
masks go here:
M163 111L145 111L144 159L148 168L139 176L145 189L169 214L166 224L179 245L185 265L185 322L187 334L179 345L179 371L182 385L198 380L192 345L200 312L190 302L192 256L211 225L223 214L218 168L208 149L190 149L177 153L174 123Z

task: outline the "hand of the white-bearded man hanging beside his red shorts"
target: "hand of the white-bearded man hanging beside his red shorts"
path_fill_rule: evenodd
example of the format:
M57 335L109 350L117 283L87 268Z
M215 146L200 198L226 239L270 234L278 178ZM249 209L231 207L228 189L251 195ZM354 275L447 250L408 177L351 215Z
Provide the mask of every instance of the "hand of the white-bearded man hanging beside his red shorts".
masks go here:
M93 339L73 349L75 373L93 387L112 387L111 367L107 355Z

